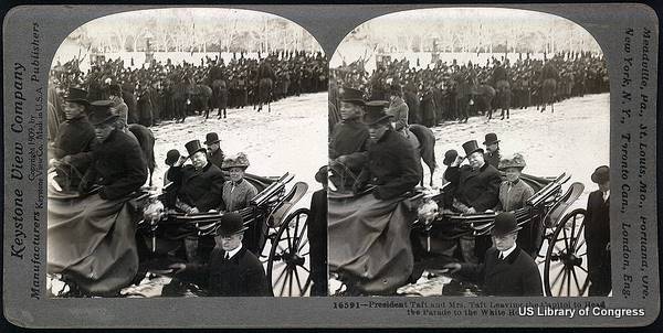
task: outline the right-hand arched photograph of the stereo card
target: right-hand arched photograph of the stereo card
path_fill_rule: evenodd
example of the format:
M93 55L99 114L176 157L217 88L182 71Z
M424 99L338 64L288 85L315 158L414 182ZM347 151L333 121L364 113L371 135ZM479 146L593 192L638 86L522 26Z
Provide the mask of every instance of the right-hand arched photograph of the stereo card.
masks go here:
M610 85L582 26L440 8L329 74L332 296L611 296Z

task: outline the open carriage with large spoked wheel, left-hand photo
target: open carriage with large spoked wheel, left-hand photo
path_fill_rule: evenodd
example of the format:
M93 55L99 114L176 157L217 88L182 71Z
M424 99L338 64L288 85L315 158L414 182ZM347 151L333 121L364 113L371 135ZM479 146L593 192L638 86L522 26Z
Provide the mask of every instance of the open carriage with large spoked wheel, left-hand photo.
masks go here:
M305 296L312 286L307 238L309 211L305 207L291 211L308 190L307 184L296 182L286 191L286 184L294 179L294 175L288 173L281 178L246 174L245 179L256 186L259 194L251 200L248 207L238 212L242 215L244 226L249 227L244 234L243 246L266 264L267 278L272 281L271 287L276 296ZM140 200L154 201L154 197L143 196ZM213 237L222 214L224 213L170 212L158 219L140 221L139 255L145 268L138 276L145 276L148 267L164 266L164 261L182 260L166 257L178 247L181 248L183 238Z

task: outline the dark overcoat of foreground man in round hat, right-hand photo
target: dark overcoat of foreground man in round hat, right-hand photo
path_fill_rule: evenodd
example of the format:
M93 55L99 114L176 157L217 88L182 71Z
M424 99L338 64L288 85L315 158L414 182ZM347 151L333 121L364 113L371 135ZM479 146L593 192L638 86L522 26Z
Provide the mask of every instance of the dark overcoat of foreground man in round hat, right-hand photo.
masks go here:
M487 296L544 296L541 276L532 257L519 247L505 259L498 256L499 250L492 247L483 264L462 264L460 273L478 282Z

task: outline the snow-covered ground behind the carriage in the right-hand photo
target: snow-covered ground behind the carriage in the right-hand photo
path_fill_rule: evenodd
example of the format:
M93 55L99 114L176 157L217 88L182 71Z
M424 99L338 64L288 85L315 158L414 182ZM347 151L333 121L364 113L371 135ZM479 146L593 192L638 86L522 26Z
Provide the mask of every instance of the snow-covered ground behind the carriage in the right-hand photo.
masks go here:
M499 112L497 112L499 115ZM490 122L483 117L471 118L467 123L444 123L433 129L435 132L435 157L441 165L433 178L434 185L442 184L444 152L455 149L464 154L461 144L476 140L480 144L484 136L495 132L501 140L504 153L523 153L527 166L524 172L537 176L556 176L562 172L571 174L562 190L573 182L585 184L582 195L569 207L587 206L587 197L598 189L591 182L591 173L599 165L608 165L610 159L610 95L587 95L564 100L555 105L555 114L549 107L544 112L536 107L512 110L511 119L493 119ZM425 168L424 168L425 169ZM428 174L425 175L428 179ZM539 256L545 256L547 244L544 243ZM538 258L537 262L543 262ZM539 265L541 276L544 265ZM579 276L583 278L583 276ZM450 280L445 277L429 279L427 275L414 284L399 290L404 294L440 294Z

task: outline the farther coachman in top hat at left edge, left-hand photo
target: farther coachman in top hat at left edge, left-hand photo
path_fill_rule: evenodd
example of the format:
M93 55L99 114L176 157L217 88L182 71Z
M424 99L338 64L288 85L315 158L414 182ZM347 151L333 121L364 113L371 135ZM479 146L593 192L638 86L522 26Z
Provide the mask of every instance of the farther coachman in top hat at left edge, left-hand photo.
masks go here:
M65 98L65 121L57 128L51 165L59 166L55 182L65 190L76 190L90 165L95 135L87 119L87 92L70 88ZM69 185L69 186L67 186Z

